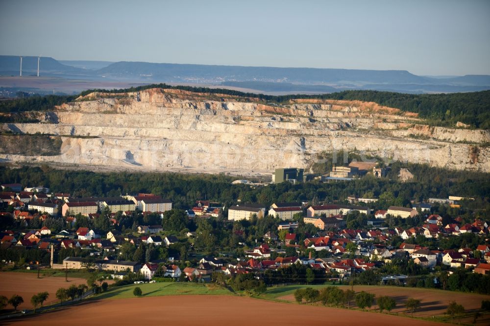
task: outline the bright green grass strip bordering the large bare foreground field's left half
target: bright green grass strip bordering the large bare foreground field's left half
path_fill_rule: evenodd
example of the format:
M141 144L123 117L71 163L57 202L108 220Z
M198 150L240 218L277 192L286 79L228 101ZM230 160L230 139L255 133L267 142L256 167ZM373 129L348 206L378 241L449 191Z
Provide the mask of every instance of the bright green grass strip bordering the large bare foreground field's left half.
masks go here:
M95 299L134 298L133 290L139 287L143 297L175 296L175 295L231 295L229 290L215 284L198 283L143 283L116 287L108 292L95 296Z

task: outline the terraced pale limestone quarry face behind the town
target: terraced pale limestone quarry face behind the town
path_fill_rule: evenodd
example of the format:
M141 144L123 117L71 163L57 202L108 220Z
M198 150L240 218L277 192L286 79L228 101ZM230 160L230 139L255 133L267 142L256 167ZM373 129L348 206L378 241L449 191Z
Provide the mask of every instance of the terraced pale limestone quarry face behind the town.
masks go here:
M431 127L416 114L360 101L296 99L277 104L149 89L91 93L36 114L39 123L5 123L1 128L59 136L59 154L3 150L1 161L249 175L287 166L308 170L318 154L347 150L386 163L490 172L489 130Z

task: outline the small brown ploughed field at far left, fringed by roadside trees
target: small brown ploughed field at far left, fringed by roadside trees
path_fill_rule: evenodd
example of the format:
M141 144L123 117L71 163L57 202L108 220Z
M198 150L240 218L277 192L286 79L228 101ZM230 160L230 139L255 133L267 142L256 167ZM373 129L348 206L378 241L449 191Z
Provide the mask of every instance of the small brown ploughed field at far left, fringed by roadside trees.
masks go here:
M56 303L56 291L60 287L68 288L70 285L87 284L86 279L68 278L68 282L64 277L43 276L37 278L37 273L22 273L22 272L1 272L0 273L0 295L10 298L14 294L20 295L24 299L24 303L17 307L17 310L32 309L30 299L34 294L48 291L49 297L44 305ZM12 306L8 305L6 309Z

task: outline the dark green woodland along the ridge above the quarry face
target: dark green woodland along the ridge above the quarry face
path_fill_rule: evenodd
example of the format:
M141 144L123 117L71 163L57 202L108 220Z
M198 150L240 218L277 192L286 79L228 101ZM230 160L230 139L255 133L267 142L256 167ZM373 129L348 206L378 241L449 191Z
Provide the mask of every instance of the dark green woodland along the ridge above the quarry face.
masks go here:
M291 95L264 95L244 93L227 89L209 89L191 86L170 86L166 84L152 84L120 90L87 90L80 93L86 95L92 92L138 92L149 88L179 89L200 93L228 94L246 98L259 98L260 100L275 103L285 103L294 98L311 99L341 99L375 102L400 109L407 112L418 113L432 125L455 126L461 121L472 127L490 129L490 91L472 93L449 94L404 94L379 91L344 91L321 95L291 94ZM0 113L21 111L48 111L54 105L73 101L77 96L33 96L12 101L0 102ZM1 122L1 121L0 121ZM12 122L12 121L5 121Z

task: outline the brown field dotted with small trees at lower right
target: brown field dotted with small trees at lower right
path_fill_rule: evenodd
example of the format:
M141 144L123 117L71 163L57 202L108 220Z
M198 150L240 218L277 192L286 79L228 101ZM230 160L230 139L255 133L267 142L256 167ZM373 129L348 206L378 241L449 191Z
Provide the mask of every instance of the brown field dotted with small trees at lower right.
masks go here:
M342 289L348 288L350 287L342 287ZM447 310L448 303L453 300L462 304L467 312L480 309L482 300L490 300L489 296L482 294L442 291L436 289L356 285L354 286L354 290L356 293L366 291L375 294L376 297L389 296L394 298L396 300L396 307L392 310L392 313L398 313L399 315L404 315L405 313L410 314L405 308L405 301L408 298L419 299L420 309L414 312L414 317L425 318L443 315ZM294 296L292 294L277 299L294 302ZM378 306L373 305L371 309L378 309ZM460 321L460 319L458 319L458 321ZM467 317L461 319L461 322L472 324L472 318ZM486 314L479 318L476 325L490 325L490 315Z

